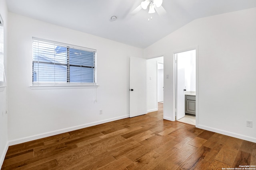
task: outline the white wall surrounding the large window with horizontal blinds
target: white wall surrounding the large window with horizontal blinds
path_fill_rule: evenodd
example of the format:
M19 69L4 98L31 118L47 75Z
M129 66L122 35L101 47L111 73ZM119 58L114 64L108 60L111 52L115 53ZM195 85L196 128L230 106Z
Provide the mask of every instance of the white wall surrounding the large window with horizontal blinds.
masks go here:
M129 57L142 49L13 13L9 35L10 145L129 116ZM96 49L98 102L93 88L32 90L32 37Z

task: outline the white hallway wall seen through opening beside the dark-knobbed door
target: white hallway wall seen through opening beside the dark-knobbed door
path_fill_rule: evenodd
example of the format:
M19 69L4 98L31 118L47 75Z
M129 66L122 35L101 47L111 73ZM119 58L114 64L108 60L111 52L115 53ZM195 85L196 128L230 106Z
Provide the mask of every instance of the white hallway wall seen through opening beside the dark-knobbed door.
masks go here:
M163 63L164 57L147 60L147 107L148 112L158 110L157 101L157 63Z

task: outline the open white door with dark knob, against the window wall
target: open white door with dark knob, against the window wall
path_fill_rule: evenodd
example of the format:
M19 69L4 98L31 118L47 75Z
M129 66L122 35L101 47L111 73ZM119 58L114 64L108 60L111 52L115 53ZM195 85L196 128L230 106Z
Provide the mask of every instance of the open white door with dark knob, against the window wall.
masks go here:
M130 117L147 113L146 59L130 57Z

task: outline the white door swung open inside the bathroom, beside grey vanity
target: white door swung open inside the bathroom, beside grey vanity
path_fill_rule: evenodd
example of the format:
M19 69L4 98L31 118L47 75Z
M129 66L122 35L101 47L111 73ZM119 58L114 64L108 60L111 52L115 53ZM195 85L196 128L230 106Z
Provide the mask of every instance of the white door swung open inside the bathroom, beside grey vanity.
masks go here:
M184 61L186 56L176 54L177 58L177 109L176 109L176 120L181 119L185 116L185 68Z

